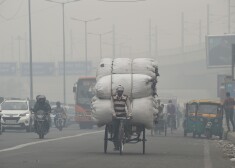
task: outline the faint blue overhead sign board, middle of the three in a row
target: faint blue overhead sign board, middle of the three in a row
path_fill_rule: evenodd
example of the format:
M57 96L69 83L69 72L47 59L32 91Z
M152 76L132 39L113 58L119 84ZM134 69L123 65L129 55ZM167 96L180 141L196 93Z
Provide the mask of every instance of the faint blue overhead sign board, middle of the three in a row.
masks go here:
M53 76L55 75L55 64L52 62L33 63L34 76ZM29 63L21 64L21 75L29 76Z

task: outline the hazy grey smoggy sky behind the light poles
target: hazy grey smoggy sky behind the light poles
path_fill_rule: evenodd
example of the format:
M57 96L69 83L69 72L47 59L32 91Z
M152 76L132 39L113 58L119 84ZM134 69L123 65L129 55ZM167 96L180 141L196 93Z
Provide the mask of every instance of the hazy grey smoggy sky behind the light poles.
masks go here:
M58 0L62 2L62 0ZM64 2L64 1L63 1ZM181 45L181 13L185 18L185 45L202 41L206 33L206 5L210 4L211 34L227 32L227 0L146 0L138 3L110 3L81 0L65 5L66 55L84 60L84 24L71 20L101 18L88 23L88 32L103 33L116 28L117 56L145 54L148 51L149 20L152 21L152 51L158 29L159 49ZM62 60L62 8L45 0L31 0L32 38L35 61ZM235 5L235 4L234 4ZM3 60L27 61L28 1L0 0L0 55ZM233 9L232 9L233 10ZM235 9L234 9L235 11ZM234 13L234 12L232 12ZM232 15L233 18L234 15ZM234 16L235 18L235 16ZM232 19L235 20L235 19ZM103 55L112 55L112 34L103 36ZM18 37L23 40L19 43ZM71 45L72 44L72 45ZM20 48L19 48L20 46ZM27 51L27 52L26 52ZM144 55L145 56L145 55ZM88 36L88 59L99 57L98 36Z

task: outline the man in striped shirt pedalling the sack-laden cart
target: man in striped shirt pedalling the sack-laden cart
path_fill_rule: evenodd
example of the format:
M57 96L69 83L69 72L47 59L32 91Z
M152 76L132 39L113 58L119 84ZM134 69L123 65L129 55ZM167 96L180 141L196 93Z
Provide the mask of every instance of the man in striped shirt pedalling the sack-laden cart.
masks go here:
M116 89L116 94L111 97L113 112L113 128L114 128L114 150L119 150L118 133L120 120L116 117L130 117L132 118L131 103L128 96L123 94L124 87L119 85ZM127 111L126 111L127 108Z

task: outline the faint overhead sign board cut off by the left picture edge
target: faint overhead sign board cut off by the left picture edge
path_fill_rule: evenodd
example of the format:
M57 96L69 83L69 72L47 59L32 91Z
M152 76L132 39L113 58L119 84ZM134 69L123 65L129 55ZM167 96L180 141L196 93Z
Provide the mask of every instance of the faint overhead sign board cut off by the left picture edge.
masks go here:
M0 63L0 75L10 76L16 75L16 63Z

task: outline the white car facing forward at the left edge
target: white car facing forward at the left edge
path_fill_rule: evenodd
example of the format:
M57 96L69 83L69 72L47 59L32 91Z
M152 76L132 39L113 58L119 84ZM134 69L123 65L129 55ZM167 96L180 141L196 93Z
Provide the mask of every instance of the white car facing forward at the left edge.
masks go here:
M5 100L1 104L2 131L6 129L33 129L33 117L28 100Z

